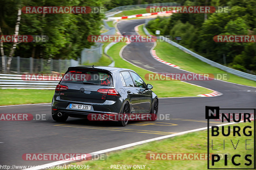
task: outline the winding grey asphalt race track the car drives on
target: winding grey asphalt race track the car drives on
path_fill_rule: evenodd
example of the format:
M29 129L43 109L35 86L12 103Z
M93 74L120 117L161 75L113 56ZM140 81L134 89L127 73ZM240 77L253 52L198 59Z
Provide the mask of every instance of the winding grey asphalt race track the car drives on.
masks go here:
M119 32L136 34L134 27L145 19L127 20L118 23ZM156 73L185 73L150 55L154 43L132 42L122 56L132 64ZM207 126L205 106L221 108L255 108L256 88L223 81L189 81L223 93L217 97L163 98L159 99L159 114L169 115L170 120L156 122L129 122L126 127L117 127L112 122L88 122L68 118L65 123L52 120L51 105L24 105L0 107L2 113L46 114L47 120L1 121L0 164L43 165L53 161L25 161L25 153L91 153L154 137ZM157 88L157 87L154 87ZM153 88L153 91L154 91ZM171 89L172 87L170 87ZM210 125L221 124L212 121Z

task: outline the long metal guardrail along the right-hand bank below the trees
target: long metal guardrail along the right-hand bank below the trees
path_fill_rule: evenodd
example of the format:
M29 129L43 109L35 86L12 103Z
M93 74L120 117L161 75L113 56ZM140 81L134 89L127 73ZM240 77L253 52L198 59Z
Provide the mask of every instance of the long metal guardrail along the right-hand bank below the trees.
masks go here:
M143 30L144 30L145 34L150 35L148 33L148 30L147 30L145 25L146 24L143 25ZM185 51L186 53L198 58L199 60L203 61L204 63L210 64L213 67L219 68L220 70L224 70L224 71L226 71L228 73L231 73L231 74L234 74L236 76L256 81L256 75L248 74L248 73L245 73L243 71L235 70L235 69L229 68L227 66L221 65L221 64L216 63L212 60L209 60L209 59L207 59L207 58L205 58L205 57L203 57L199 54L196 54L195 52L189 50L188 48L185 48L185 47L181 46L180 44L177 44L176 42L173 42L172 40L170 40L166 37L160 36L160 38L163 39L165 42L168 42L169 44L180 48L182 51Z

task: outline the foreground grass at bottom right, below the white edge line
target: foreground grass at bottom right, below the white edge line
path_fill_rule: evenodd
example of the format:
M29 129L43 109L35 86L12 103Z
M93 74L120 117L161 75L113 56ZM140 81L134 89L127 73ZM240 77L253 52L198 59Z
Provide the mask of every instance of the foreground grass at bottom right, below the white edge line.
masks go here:
M240 126L241 129L248 123L239 123L236 124ZM227 129L227 127L225 127ZM253 131L253 126L252 129ZM221 128L219 130L221 133ZM246 130L247 132L247 130ZM247 132L248 133L248 132ZM211 138L210 138L211 139ZM237 137L219 137L220 143L213 142L214 149L217 147L218 152L211 150L210 153L230 153L232 156L236 153L241 154L241 157L236 157L235 161L240 162L244 165L244 163L248 163L245 161L244 155L252 154L252 150L245 150L245 139L252 139L252 137L245 137L243 134L239 137L239 144L237 145L236 150L234 150L230 139L234 141L234 145L236 145L238 138ZM223 139L225 139L225 150L221 150L223 148ZM253 139L251 141L247 141L247 144L251 144L253 147ZM210 140L211 146L211 140ZM247 145L249 146L249 145ZM249 146L250 147L250 146ZM146 155L150 153L207 153L207 130L192 132L184 135L179 135L175 137L170 137L161 141L149 142L142 145L137 145L132 148L128 148L121 151L111 152L107 154L106 160L91 160L91 161L82 161L77 163L72 163L72 165L89 165L90 169L102 169L107 170L110 169L110 165L146 165L145 169L148 170L170 170L170 169L182 169L182 170L197 170L197 169L207 169L207 160L149 160L146 159ZM253 156L250 158L253 162ZM220 168L220 166L224 164L224 160L220 160L219 163L216 163L215 168ZM236 168L235 166L231 166L231 159L228 159L228 166L225 168ZM68 166L67 166L68 167ZM253 167L250 166L250 168ZM246 167L249 168L249 167ZM133 168L132 168L133 169ZM71 170L71 169L68 169Z

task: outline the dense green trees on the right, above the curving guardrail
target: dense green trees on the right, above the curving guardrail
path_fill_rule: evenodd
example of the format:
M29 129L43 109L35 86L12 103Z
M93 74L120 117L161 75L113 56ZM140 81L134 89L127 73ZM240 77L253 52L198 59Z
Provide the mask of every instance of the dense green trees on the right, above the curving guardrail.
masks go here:
M223 64L223 54L225 54L228 66L249 73L256 72L255 42L213 41L215 35L255 35L256 2L211 0L205 4L206 2L187 0L180 3L192 6L229 6L230 11L207 14L207 19L204 19L204 14L177 13L169 19L151 20L147 26L148 31L154 33L156 30L161 30L162 35L170 35L172 38L180 36L181 45L208 59Z

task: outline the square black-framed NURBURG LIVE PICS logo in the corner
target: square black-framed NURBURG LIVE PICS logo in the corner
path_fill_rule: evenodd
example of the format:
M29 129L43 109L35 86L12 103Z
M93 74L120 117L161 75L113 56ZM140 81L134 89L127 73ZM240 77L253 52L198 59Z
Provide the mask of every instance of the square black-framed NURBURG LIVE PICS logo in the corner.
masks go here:
M208 169L255 169L255 108L205 106ZM209 120L225 126L209 126ZM239 123L238 123L239 122ZM223 153L223 154L222 154ZM220 155L224 158L220 158ZM229 155L229 158L228 158Z

